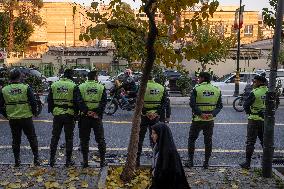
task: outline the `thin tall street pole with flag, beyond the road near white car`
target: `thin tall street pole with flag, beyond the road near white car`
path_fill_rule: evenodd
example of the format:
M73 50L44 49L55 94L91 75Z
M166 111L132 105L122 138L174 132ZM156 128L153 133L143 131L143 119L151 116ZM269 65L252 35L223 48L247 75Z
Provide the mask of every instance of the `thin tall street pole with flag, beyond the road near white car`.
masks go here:
M240 8L239 8L237 71L236 71L236 79L235 79L234 96L239 96L240 94L241 14L242 14L242 0L240 0Z

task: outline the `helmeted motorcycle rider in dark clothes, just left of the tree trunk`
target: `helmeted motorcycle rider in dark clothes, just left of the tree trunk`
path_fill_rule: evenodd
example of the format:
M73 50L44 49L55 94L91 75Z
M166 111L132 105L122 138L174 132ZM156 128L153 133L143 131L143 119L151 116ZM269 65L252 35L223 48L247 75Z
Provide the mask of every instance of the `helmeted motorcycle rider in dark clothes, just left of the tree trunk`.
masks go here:
M121 92L121 100L123 106L129 108L129 98L135 98L137 95L137 86L132 77L131 69L126 69L124 71L124 78L122 80L122 84L120 85L119 89L122 90Z

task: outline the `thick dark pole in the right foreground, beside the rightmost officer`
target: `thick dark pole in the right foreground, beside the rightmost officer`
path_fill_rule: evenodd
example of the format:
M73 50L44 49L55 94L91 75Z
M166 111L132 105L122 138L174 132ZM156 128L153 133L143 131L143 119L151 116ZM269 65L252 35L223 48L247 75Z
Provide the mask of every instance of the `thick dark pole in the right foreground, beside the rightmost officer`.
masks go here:
M273 38L273 53L269 75L269 91L266 95L266 110L264 118L264 140L262 158L262 176L272 177L272 158L274 153L274 125L275 125L275 85L277 77L278 55L280 50L282 20L283 20L283 0L278 0L276 27Z

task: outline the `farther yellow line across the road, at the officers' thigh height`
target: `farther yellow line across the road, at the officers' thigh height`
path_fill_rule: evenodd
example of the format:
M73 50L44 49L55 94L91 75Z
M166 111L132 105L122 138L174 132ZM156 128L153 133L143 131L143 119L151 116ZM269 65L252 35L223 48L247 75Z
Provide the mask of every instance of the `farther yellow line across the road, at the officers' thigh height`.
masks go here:
M34 122L42 122L42 123L53 123L53 120L48 119L34 119ZM0 122L8 122L6 119L0 119ZM132 124L131 121L115 121L115 120L109 120L109 121L103 121L104 123L112 123L112 124ZM170 124L191 124L190 121L171 121ZM235 123L214 123L215 125L247 125L247 122L235 122ZM276 126L284 126L284 123L275 123Z

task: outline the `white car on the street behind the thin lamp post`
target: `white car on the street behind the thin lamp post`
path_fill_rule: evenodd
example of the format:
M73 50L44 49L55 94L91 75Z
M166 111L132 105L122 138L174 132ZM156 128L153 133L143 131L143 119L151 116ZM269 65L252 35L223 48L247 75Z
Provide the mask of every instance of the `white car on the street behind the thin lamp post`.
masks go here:
M240 94L243 93L245 86L252 83L254 76L259 75L256 72L241 72L240 73ZM234 95L235 92L236 73L229 73L219 78L217 81L212 81L212 85L220 88L222 95Z

